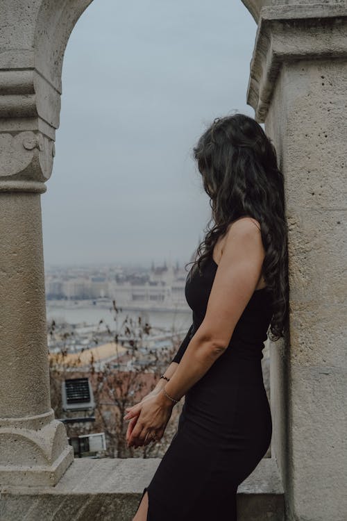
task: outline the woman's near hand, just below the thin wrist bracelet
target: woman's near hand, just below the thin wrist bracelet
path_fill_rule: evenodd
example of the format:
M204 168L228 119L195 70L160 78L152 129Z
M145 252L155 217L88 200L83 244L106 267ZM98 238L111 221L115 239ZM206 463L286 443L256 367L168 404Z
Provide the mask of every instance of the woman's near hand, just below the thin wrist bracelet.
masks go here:
M151 391L139 404L131 407L124 416L126 420L131 418L126 433L128 447L148 445L152 441L151 434L146 438L148 432L155 433L157 440L162 438L173 406L174 403L163 392Z

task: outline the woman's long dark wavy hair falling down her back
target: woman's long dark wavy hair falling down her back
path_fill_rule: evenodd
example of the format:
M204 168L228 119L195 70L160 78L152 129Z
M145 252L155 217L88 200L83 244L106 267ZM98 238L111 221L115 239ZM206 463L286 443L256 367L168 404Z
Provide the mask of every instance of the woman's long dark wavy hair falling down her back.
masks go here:
M284 179L276 149L255 119L235 113L214 119L194 147L194 159L210 197L212 217L194 261L185 266L193 263L190 272L196 269L201 274L230 223L243 216L255 218L266 252L265 291L271 292L273 306L268 332L275 342L285 336L289 299Z

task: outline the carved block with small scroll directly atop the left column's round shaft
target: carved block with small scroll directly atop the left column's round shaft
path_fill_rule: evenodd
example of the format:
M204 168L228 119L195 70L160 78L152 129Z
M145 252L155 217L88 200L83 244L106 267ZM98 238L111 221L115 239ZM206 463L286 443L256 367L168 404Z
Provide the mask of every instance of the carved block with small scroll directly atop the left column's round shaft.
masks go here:
M0 133L0 191L44 192L54 154L54 141L39 131Z

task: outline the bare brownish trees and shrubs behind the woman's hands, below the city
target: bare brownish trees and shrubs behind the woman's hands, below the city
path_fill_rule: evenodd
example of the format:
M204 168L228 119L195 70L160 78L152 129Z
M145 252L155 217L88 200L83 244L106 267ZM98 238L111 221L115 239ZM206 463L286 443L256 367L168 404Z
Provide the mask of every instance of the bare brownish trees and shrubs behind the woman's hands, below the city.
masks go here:
M112 331L104 320L99 321L105 325L109 337L115 349L115 358L105 363L96 361L91 354L87 367L81 370L81 356L71 362L69 357L68 341L74 335L67 324L57 330L53 321L49 325L50 345L55 353L50 355L51 375L51 403L58 417L62 417L61 383L69 375L76 377L89 377L92 383L95 400L95 422L93 424L67 424L68 436L103 431L107 440L106 457L162 457L177 429L178 416L182 410L182 404L178 403L173 409L170 420L165 429L164 436L149 445L128 447L126 443L126 430L128 422L124 420L126 407L138 403L154 388L160 374L169 365L174 352L177 349L177 339L166 349L150 349L142 354L142 345L145 336L151 332L151 326L143 323L142 317L133 320L126 318L119 324L119 313L116 301L112 301L112 309L115 321L115 330ZM98 327L99 327L98 326ZM94 345L99 344L98 331L93 336ZM126 348L119 343L120 338L126 338ZM57 352L57 346L59 347ZM81 354L84 350L81 350ZM78 430L78 433L76 432Z

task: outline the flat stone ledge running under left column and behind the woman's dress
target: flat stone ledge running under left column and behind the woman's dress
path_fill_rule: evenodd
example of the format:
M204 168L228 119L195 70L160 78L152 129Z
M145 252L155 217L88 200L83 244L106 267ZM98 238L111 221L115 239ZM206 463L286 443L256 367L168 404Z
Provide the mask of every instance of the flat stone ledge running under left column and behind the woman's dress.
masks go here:
M160 458L75 459L54 487L0 487L1 521L131 521ZM276 461L264 458L238 489L239 521L283 521Z

